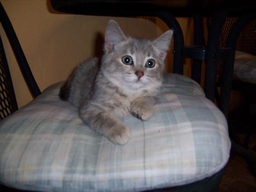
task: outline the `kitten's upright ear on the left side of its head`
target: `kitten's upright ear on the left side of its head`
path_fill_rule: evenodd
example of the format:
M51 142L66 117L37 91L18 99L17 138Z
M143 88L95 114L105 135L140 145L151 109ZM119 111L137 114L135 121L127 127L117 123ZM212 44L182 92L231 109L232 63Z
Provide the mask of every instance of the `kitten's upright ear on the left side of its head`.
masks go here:
M127 37L123 34L118 24L114 20L110 20L105 31L105 50L113 51L116 44L126 39Z

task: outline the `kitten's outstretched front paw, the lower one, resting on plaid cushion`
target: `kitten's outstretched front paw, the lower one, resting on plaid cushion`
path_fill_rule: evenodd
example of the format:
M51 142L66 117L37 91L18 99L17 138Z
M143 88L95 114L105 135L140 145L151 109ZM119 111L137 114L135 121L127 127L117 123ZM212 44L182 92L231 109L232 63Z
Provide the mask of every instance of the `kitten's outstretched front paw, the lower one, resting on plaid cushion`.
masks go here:
M130 139L130 136L130 130L122 125L113 127L107 137L113 143L123 145Z

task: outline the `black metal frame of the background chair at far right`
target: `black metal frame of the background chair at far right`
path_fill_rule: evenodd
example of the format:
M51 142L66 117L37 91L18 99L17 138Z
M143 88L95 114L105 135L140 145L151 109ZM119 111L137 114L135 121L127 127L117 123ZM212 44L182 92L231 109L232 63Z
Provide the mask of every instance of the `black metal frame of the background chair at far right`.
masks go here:
M237 21L232 25L228 33L225 46L230 47L232 50L236 50L237 41L243 29L255 18L256 18L255 13L246 14L239 17ZM256 50L253 50L253 51L256 52ZM232 62L226 62L226 60L224 60L223 74L221 75L219 83L221 84L221 87L224 87L225 89L221 89L220 97L222 99L220 99L220 102L218 103L220 106L220 109L222 109L227 119L229 114L229 111L228 111L229 102L225 102L225 101L227 100L229 101L229 94L232 88L243 87L242 89L244 90L247 89L247 92L249 91L251 94L255 95L256 93L255 90L253 90L256 87L255 84L246 83L246 82L233 83L234 82L233 81L234 58L232 57L228 59L232 60ZM254 177L256 177L256 170L254 167L254 165L256 164L256 153L253 152L252 150L248 150L246 147L240 144L236 132L230 126L229 126L229 135L230 135L231 144L232 144L231 150L234 153L241 156L247 162L248 166L252 171L252 174L254 175ZM246 139L248 140L248 134ZM245 141L245 142L248 142L248 141Z

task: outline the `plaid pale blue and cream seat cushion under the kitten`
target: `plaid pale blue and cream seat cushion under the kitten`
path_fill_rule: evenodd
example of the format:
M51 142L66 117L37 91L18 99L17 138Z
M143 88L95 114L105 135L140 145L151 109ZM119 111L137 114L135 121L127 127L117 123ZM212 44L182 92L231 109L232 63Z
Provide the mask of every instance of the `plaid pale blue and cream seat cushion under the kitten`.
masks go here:
M152 118L120 118L116 145L58 98L60 83L0 122L0 182L35 191L141 191L198 181L228 161L227 122L199 84L166 74Z

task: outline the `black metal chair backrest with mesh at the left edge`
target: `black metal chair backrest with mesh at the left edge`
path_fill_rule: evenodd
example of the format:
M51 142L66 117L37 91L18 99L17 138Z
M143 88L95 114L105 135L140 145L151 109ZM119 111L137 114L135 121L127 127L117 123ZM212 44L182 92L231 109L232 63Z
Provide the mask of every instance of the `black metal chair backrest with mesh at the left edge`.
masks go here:
M22 72L28 88L33 97L38 96L41 92L37 86L34 76L29 68L27 59L22 47L19 44L16 33L12 27L10 19L0 2L0 22L8 37L14 55L17 59L20 71ZM16 97L13 89L11 75L4 51L2 39L0 37L0 120L4 119L18 109Z

